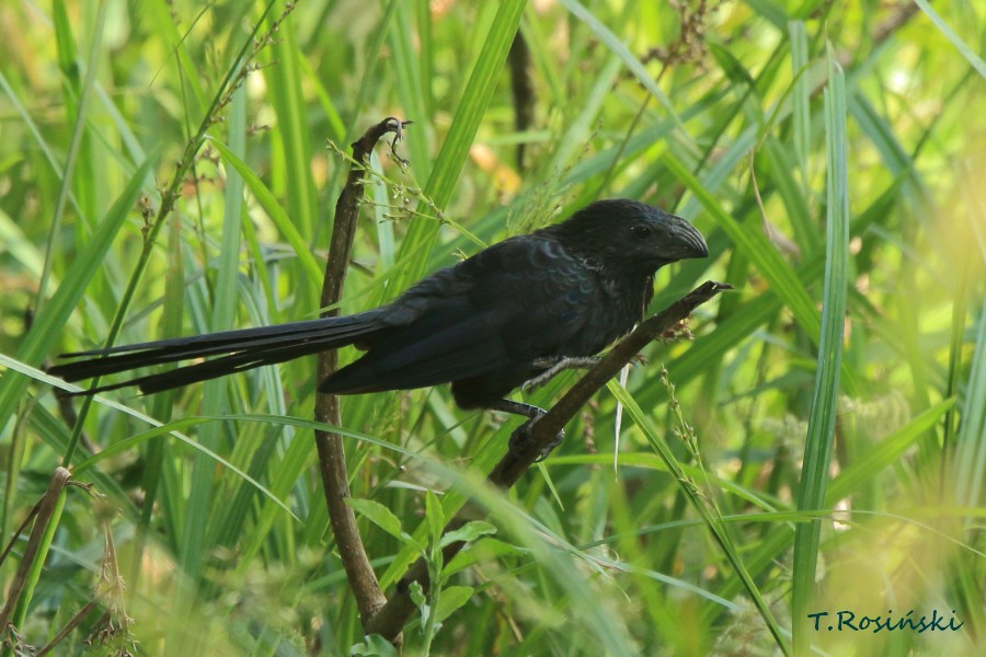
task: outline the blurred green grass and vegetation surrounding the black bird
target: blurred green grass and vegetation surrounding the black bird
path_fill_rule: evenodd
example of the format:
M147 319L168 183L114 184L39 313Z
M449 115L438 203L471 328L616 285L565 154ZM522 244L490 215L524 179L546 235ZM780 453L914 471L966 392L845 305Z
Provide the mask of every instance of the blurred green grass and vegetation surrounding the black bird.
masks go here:
M772 654L792 626L827 654L986 650L983 3L13 0L0 35L4 592L55 469L92 483L61 495L9 646L386 653L328 531L312 358L91 407L32 368L316 316L342 153L392 115L410 165L378 148L343 312L609 196L709 241L653 311L736 287L506 495L478 482L514 418L444 387L343 400L387 591L460 504L443 492L491 512L409 654ZM842 610L964 625L792 621Z

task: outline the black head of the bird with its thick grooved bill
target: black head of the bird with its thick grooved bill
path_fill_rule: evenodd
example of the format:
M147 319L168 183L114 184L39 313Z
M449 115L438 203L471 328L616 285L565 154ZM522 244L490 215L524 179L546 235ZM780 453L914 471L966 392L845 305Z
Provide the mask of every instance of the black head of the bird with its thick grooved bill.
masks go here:
M693 226L626 198L592 203L554 228L566 246L607 272L650 275L664 265L709 255Z

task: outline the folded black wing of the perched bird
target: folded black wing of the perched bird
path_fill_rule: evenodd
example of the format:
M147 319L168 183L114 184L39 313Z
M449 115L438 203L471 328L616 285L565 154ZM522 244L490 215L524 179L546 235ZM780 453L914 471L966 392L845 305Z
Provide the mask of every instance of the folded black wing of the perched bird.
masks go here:
M564 351L597 293L595 276L552 240L506 240L424 279L388 307L394 324L322 382L358 393L434 385Z

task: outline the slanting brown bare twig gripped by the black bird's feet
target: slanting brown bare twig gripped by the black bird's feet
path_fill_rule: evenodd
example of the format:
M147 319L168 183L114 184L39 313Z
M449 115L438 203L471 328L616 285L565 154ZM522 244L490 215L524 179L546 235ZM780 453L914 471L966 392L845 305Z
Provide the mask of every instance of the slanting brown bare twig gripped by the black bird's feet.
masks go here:
M555 403L548 413L535 419L526 440L514 441L512 449L496 464L488 481L502 488L513 486L520 475L530 468L546 448L551 446L558 433L571 420L578 410L620 371L649 342L687 318L696 308L715 297L719 292L732 289L733 286L706 281L686 297L678 299L656 315L640 324L630 335L620 341L609 353L599 359L575 385L573 385ZM446 532L458 529L465 520L456 518L446 527ZM449 563L463 548L465 542L450 543L443 551L443 563ZM372 622L364 627L368 634L380 634L392 638L400 634L408 619L416 609L411 601L410 587L414 581L428 588L428 567L424 560L419 560L408 574L398 583L398 589L387 603L374 616Z

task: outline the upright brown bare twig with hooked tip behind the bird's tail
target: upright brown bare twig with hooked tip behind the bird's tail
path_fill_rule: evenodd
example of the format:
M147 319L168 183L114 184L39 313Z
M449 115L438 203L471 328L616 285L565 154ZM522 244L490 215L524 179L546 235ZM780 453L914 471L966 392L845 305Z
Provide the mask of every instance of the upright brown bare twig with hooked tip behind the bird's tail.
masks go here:
M353 159L360 165L349 169L346 186L340 194L335 205L335 218L332 224L332 243L329 247L329 262L325 265L325 280L322 286L321 307L329 308L337 304L342 297L343 283L346 278L346 267L349 262L349 251L353 249L353 239L356 234L356 220L359 217L359 199L363 196L363 184L366 180L366 165L369 162L370 152L385 135L394 134L391 143L393 151L397 140L401 137L401 129L408 122L397 118L386 118L371 126L357 141L353 143ZM397 153L394 153L397 155ZM403 163L403 160L400 160ZM339 310L333 308L322 313L323 318L334 316ZM334 350L319 355L318 378L324 380L339 368L339 357ZM339 411L339 397L334 394L319 394L316 396L314 418L339 426L341 424ZM343 448L342 437L329 431L316 431L316 446L319 451L319 470L322 475L322 485L325 491L325 504L329 507L329 520L332 525L332 534L349 588L356 598L359 608L359 618L364 627L370 619L387 601L380 592L380 584L377 575L370 566L363 540L356 527L356 516L353 509L346 505L349 497L349 484L346 473L346 453Z

